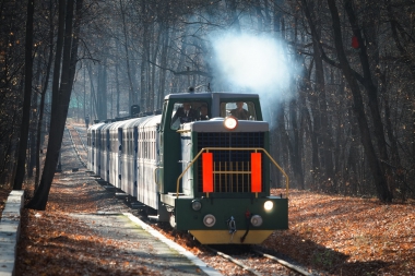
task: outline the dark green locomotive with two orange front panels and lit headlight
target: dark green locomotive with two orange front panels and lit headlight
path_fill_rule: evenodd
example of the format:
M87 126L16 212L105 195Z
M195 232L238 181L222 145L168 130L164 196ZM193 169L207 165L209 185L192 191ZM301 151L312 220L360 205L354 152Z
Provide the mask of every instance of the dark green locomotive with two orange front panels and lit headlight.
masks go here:
M213 119L177 129L175 111L185 103L194 110L208 107ZM232 115L237 103L249 115L245 120ZM178 230L201 243L261 243L288 228L288 200L270 195L273 159L258 95L168 95L159 134L158 192Z

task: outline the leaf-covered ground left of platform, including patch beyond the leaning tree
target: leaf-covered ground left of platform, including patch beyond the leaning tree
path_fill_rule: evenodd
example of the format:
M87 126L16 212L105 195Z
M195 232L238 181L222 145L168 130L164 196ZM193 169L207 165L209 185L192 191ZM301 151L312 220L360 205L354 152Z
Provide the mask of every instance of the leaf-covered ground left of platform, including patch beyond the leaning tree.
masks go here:
M70 216L96 213L108 201L107 205L112 204L114 195L106 196L103 190L85 182L54 182L46 211L24 209L15 275L163 275L150 268L147 260L134 256L132 261L134 244L121 237L97 235Z

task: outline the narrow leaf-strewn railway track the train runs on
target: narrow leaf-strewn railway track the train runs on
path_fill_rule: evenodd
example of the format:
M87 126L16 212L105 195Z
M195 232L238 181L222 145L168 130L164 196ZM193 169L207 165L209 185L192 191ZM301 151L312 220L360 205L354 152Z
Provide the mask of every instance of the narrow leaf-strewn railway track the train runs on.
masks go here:
M80 131L74 125L68 124L67 129L78 158L86 167L87 152L82 140L82 134L80 134ZM131 205L130 203L131 202L127 200L124 201L124 204L128 206ZM137 216L140 217L140 219L144 219L142 214L137 214ZM264 253L258 248L245 247L242 250L239 248L239 252L237 252L238 247L240 247L238 245L230 250L232 253L225 253L223 252L224 250L200 245L187 235L183 235L185 238L177 239L177 236L173 233L171 229L168 230L168 227L167 229L166 227L162 228L159 224L154 220L145 219L145 223L157 229L168 239L175 240L175 242L183 248L189 248L189 244L192 244L191 248L198 247L197 250L201 252L198 256L209 266L220 271L223 275L317 275L275 256L276 254ZM230 245L226 247L232 248ZM217 261L217 256L226 261Z

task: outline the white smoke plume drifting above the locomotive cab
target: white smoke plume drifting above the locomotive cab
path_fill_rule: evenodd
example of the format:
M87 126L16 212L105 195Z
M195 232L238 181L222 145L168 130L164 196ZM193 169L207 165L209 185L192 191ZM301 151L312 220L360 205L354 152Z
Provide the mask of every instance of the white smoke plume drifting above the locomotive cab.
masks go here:
M275 37L227 32L212 36L214 89L257 93L266 110L295 95L298 67L288 47ZM272 116L271 116L272 117ZM269 119L269 118L268 118Z

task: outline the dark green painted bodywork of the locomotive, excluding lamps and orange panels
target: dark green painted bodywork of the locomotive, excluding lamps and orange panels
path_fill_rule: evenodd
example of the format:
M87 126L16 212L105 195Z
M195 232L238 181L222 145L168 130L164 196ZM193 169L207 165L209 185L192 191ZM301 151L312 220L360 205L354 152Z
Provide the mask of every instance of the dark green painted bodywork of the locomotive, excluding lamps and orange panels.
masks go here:
M235 131L226 130L223 125L223 118L229 113L229 103L245 101L250 110L254 110L252 119L239 121ZM209 121L197 121L183 123L180 130L174 129L171 119L174 109L179 103L192 103L195 106L206 104L210 110ZM288 228L288 199L270 196L270 159L262 155L262 191L252 193L248 189L249 178L239 177L225 178L216 181L215 191L203 192L202 164L199 158L183 175L179 190L177 180L201 148L206 147L261 147L270 151L269 125L262 121L262 112L259 96L253 94L235 93L195 93L195 94L173 94L165 97L162 122L159 127L161 137L161 164L157 170L158 193L161 204L173 211L176 219L176 227L179 230L224 230L228 225L226 220L235 218L238 229L248 229L249 216L260 215L263 224L259 227L250 226L250 229L273 230ZM232 141L232 142L228 142ZM246 141L246 142L245 142ZM251 141L256 141L252 143ZM230 153L229 153L230 154ZM250 153L249 153L250 154ZM223 163L235 165L233 160L222 161L220 151L213 151L217 166ZM242 153L239 153L242 155ZM232 159L232 158L230 158ZM247 158L241 157L241 164ZM242 165L240 165L242 166ZM245 165L244 165L245 166ZM222 181L226 185L222 185ZM239 183L240 182L240 183ZM227 190L228 189L228 190ZM177 193L178 192L178 193ZM202 204L200 211L193 211L192 201L198 200ZM274 207L271 212L265 212L264 202L271 201ZM208 214L214 215L217 219L212 227L203 224L203 217ZM248 215L249 216L248 216Z

